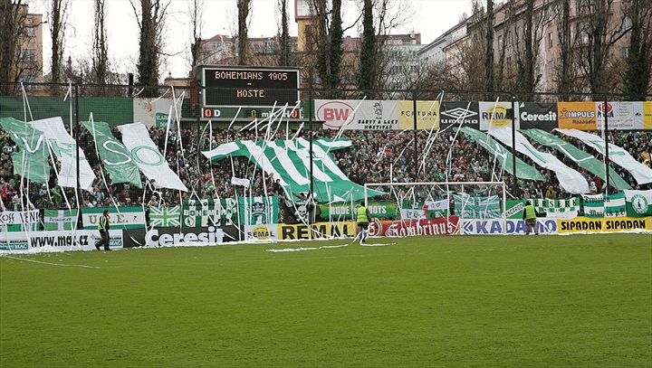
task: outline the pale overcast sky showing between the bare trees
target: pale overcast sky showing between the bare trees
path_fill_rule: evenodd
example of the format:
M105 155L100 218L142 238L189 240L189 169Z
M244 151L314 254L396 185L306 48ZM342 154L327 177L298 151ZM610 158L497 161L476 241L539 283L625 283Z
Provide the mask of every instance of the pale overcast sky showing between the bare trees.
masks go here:
M138 2L138 0L132 0ZM349 26L360 14L358 6L360 0L345 2L344 26ZM44 0L34 0L30 3L31 13L43 14L46 18L47 11ZM174 56L167 58L167 65L161 67L161 74L172 73L173 77L183 78L189 70L189 52L191 29L188 24L187 0L171 0L168 7L168 24L166 27L166 40L168 44L165 52ZM249 27L250 37L273 36L276 33L278 19L276 10L277 0L253 0L253 14ZM290 0L290 33L297 35L297 26L294 22L294 1ZM408 6L413 14L404 25L394 33L421 33L421 43L432 42L441 33L457 24L463 13L470 13L470 0L396 0L396 6ZM72 12L70 15L67 40L65 44L64 59L72 55L72 60L80 57L91 56L91 30L92 30L92 0L70 0ZM204 27L202 38L211 38L216 34L235 34L237 29L236 0L206 0ZM107 0L107 26L109 29L109 54L111 61L119 71L135 72L138 58L139 31L136 17L129 4L129 0ZM346 33L358 36L359 29L354 27ZM50 69L50 37L47 24L43 28L44 40L44 68Z

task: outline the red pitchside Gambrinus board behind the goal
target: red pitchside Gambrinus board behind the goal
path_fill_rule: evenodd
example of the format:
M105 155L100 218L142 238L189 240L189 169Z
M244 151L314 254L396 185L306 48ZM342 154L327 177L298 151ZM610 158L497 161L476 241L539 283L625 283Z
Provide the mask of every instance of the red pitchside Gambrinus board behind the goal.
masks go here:
M379 221L369 222L370 236L420 236L420 235L455 235L459 234L459 217L450 216L438 219Z

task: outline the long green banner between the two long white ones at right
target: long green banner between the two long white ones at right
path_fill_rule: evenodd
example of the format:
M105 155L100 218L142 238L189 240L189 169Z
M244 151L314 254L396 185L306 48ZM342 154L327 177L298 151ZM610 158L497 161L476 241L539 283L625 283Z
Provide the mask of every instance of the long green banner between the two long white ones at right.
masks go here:
M569 142L561 139L560 137L553 136L548 132L540 129L525 129L521 132L531 137L532 140L541 143L544 146L549 146L557 151L560 151L564 156L570 158L575 164L586 169L591 174L598 175L605 183L607 182L607 175L605 175L604 164L597 158L582 151L580 148L571 145ZM613 167L609 166L609 184L613 185L618 190L631 189L631 186L622 178Z

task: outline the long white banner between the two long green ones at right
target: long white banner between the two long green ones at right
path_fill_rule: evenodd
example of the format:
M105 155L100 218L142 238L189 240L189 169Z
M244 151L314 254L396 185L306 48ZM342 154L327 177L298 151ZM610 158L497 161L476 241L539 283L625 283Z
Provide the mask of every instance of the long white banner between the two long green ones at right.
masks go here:
M503 142L503 145L512 144L512 129L509 127L494 128L488 133ZM515 136L516 151L530 157L537 165L554 171L564 191L574 194L589 193L589 183L579 172L562 163L557 156L538 151L521 133L515 132Z

